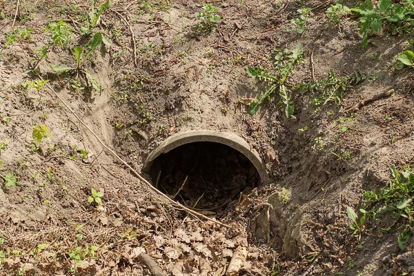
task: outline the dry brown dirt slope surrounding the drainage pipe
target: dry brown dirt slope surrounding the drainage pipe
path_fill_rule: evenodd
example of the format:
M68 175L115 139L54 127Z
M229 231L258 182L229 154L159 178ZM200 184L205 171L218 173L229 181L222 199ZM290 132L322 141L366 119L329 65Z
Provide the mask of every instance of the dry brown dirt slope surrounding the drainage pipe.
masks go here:
M364 50L357 19L331 26L328 5L317 1L215 1L222 18L206 33L197 33L200 21L194 17L201 1L111 2L90 34L82 34L90 1L21 0L13 23L16 4L0 1L0 174L7 177L0 190L1 274L147 275L138 260L146 251L171 275L223 275L236 248L248 249L240 275L413 273L411 240L404 250L397 246L400 225L383 233L386 225L367 222L357 242L346 215L346 206L358 209L364 190L388 184L389 167L412 164L413 71L391 66L409 36L384 30ZM303 7L316 8L297 34L290 19ZM53 41L46 26L59 19L72 30L63 34L67 45L49 46L48 57L39 59L38 50ZM23 33L25 27L32 32ZM16 41L6 43L14 28ZM112 43L95 49L82 68L99 91L90 79L81 76L77 86L75 72L57 75L50 68L75 67L74 48L87 48L97 32ZM279 97L248 115L239 100L254 98L263 87L246 75L246 66L271 68L273 49L299 43L304 62L287 81L293 117L286 119ZM104 151L40 85L39 75L27 72L35 64L63 101L135 169L176 132L233 131L261 154L275 184L253 190L244 204L236 200L210 214L231 228L188 216ZM311 102L317 93L299 92L295 85L313 75L326 78L330 69L338 76L358 71L377 78L350 88L339 105L316 108ZM345 112L391 88L392 97L354 115ZM50 137L39 145L34 125L50 131L40 128ZM91 188L103 192L101 206L88 204Z

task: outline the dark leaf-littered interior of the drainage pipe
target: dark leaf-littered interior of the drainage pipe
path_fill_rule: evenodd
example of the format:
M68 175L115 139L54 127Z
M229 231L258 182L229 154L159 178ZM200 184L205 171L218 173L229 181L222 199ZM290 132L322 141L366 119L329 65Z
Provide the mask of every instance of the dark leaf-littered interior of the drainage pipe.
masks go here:
M159 155L150 175L161 192L203 210L226 208L259 181L255 166L241 152L213 142L185 144Z

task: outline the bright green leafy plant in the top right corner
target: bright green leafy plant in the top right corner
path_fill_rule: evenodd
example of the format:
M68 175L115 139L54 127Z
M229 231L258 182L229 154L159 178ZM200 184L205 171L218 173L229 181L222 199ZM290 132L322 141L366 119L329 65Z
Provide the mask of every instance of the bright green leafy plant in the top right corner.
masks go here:
M411 32L414 26L413 1L403 1L402 4L392 3L391 0L380 0L374 7L371 0L366 0L359 8L352 8L353 12L361 16L362 47L368 46L370 31L377 34L383 26L384 20L393 26L393 34Z

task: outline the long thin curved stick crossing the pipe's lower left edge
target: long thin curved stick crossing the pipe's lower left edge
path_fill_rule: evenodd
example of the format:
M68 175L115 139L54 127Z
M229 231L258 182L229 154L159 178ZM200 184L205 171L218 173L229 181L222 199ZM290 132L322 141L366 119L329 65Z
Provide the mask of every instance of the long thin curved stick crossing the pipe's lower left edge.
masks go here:
M39 79L41 79L42 81L44 81L44 79L40 76L37 75L37 77L39 77ZM210 217L207 217L206 215L202 215L198 212L196 212L195 210L191 210L190 208L187 208L186 206L180 204L177 201L174 201L174 199L170 199L170 197L168 197L167 195L165 195L164 193L162 193L160 190L157 190L157 188L155 188L154 186L152 186L150 184L150 182L148 182L144 177L142 177L141 175L139 175L139 173L132 168L128 163L126 163L126 161L124 161L124 159L122 159L121 157L119 157L119 155L117 155L117 153L113 150L111 150L108 146L106 146L106 144L103 143L103 141L98 137L98 135L89 128L88 125L85 124L85 122L83 122L81 120L81 118L79 118L79 116L76 114L76 112L74 110L72 110L72 108L70 108L70 106L68 106L68 104L66 103L66 101L63 101L63 99L61 99L61 97L59 97L59 95L57 94L57 92L52 88L52 86L50 86L49 83L46 83L46 86L48 86L48 88L50 89L50 91L52 91L53 95L55 95L55 97L57 97L57 99L59 99L59 101L61 101L61 103L63 103L63 106L65 106L66 108L68 108L68 110L76 117L76 119L78 119L78 121L87 129L89 130L89 132L99 141L99 144L101 144L101 146L103 146L103 148L105 148L108 152L110 152L111 155L113 155L116 159L118 159L122 164L124 164L126 166L126 168L128 168L140 181L144 182L144 184L146 184L146 186L152 190L153 192L155 192L157 195L163 197L164 199L166 199L166 201L169 201L170 204L172 206L177 206L179 208L181 208L181 210L186 211L187 213L190 213L191 215L195 216L195 217L200 217L202 219L206 219L208 221L212 221L215 224L219 224L221 226L230 228L231 226L229 226L228 224L224 224L220 221L217 221L215 219L211 219Z

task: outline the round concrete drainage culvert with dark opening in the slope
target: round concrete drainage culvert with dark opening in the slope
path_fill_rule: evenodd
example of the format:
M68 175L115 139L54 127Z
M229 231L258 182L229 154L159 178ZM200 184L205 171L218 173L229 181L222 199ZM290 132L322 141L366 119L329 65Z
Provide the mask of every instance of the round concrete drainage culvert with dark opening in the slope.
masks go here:
M144 172L161 192L203 210L225 208L269 181L259 155L242 137L209 130L169 137L146 159Z

